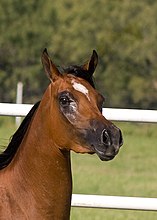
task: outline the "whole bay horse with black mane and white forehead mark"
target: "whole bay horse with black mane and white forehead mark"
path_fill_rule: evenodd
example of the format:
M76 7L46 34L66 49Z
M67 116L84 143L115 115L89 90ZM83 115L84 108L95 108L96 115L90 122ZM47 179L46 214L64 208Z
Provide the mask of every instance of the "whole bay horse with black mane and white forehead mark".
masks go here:
M123 142L120 129L102 115L104 98L92 78L96 51L64 74L46 49L41 60L51 83L0 155L1 220L69 219L70 151L108 161Z

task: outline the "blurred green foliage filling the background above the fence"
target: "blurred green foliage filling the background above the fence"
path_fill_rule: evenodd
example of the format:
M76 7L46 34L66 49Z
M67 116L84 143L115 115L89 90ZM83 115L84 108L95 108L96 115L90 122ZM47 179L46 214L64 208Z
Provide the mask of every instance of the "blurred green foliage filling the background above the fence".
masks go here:
M96 49L95 73L106 105L157 108L157 1L1 0L0 102L41 98L47 47L57 65L82 64Z

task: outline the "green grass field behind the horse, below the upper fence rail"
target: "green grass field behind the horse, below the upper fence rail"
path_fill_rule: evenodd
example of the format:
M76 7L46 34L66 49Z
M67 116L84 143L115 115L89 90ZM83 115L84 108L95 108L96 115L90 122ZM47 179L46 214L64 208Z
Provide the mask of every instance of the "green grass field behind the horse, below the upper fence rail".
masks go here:
M14 119L0 117L0 145L15 131ZM116 123L124 145L117 157L72 153L73 193L157 197L157 125ZM156 212L72 208L72 220L156 220Z

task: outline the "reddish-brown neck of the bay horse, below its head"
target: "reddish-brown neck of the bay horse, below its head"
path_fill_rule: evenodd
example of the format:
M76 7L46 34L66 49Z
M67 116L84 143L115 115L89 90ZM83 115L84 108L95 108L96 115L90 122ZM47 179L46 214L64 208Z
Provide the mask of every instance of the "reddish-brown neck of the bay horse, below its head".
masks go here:
M42 121L42 112L37 110L10 165L12 189L22 202L32 198L35 203L32 205L43 215L68 219L72 193L70 152L61 152L55 146L46 126L46 120Z

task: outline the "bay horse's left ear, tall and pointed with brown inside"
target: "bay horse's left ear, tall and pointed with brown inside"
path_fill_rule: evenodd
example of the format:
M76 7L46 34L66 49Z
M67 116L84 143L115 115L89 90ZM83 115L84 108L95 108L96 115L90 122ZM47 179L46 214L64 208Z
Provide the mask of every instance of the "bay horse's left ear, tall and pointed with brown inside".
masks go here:
M46 48L42 53L41 61L45 69L45 72L51 81L55 81L59 76L61 76L61 73L50 59Z

